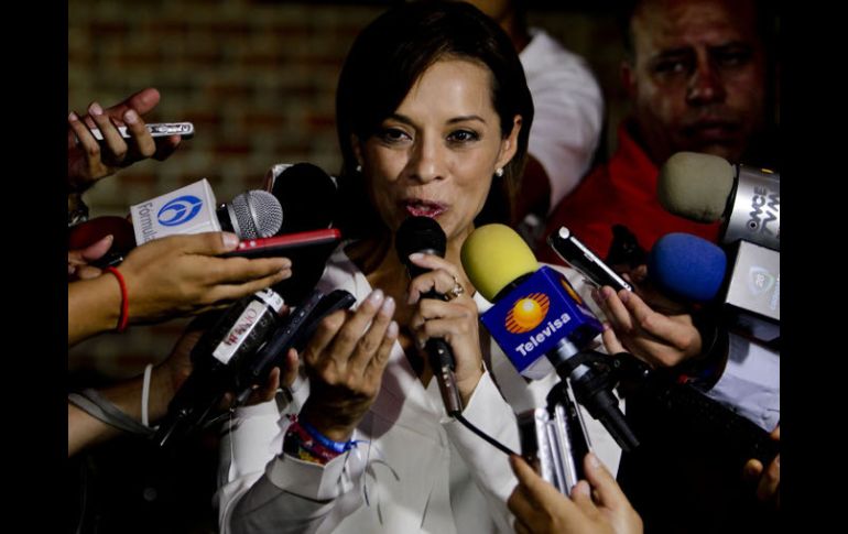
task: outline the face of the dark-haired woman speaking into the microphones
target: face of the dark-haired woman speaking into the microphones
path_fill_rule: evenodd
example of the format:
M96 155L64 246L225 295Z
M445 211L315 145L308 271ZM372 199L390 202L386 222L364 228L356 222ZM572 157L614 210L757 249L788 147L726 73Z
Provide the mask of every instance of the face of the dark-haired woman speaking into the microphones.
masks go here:
M435 218L448 240L474 229L496 170L515 153L521 118L501 137L491 74L443 59L422 74L365 143L354 139L371 201L392 231L409 216Z

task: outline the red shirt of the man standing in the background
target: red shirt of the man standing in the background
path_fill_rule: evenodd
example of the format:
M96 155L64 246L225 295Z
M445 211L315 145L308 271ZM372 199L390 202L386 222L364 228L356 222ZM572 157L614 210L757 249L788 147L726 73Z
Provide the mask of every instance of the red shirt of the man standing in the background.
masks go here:
M544 236L565 226L601 259L607 257L612 225L617 224L632 231L645 250L670 232L693 233L716 242L719 222L693 222L665 211L656 199L657 174L657 166L622 124L616 153L557 205ZM537 252L540 261L563 263L546 243Z

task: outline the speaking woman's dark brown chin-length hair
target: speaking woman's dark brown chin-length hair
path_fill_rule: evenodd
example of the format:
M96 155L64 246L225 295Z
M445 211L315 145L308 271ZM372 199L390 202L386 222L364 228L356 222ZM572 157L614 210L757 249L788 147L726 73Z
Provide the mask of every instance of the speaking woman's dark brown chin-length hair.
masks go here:
M390 9L357 36L348 53L336 91L336 122L343 168L339 189L344 207L337 220L349 237L379 228L365 179L356 171L351 135L365 141L394 112L424 72L445 57L467 59L491 72L492 106L501 133L522 118L515 156L489 190L477 225L509 222L513 198L524 168L533 121L533 100L524 69L509 36L489 17L465 2L413 2Z

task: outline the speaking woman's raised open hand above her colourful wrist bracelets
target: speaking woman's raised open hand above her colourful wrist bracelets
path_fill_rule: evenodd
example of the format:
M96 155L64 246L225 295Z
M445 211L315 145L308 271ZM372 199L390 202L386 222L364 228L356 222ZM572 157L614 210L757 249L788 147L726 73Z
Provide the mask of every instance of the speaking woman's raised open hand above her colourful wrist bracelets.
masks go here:
M301 419L334 442L346 442L380 392L398 339L395 303L376 290L356 312L322 320L303 351L309 397Z

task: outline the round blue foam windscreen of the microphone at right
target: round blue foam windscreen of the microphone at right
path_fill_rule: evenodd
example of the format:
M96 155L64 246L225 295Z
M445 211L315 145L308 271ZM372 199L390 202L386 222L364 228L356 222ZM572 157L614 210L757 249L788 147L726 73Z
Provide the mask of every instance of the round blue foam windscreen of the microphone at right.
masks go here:
M648 276L654 285L687 302L715 298L726 272L725 251L691 233L663 236L648 255Z

